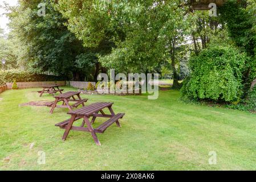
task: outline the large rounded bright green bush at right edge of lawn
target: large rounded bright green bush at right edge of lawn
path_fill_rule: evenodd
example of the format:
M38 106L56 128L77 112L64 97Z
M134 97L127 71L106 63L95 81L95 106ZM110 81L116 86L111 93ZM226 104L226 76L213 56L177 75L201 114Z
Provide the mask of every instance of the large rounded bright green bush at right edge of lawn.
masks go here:
M210 47L192 57L192 71L184 81L182 98L220 102L238 101L248 57L233 47Z

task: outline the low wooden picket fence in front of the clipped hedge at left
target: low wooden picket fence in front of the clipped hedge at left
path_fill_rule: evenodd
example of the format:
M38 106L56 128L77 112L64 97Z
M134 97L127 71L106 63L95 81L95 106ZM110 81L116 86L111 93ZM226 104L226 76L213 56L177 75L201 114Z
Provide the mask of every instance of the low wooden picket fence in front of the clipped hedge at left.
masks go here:
M17 82L18 89L37 88L47 85L65 86L66 81L35 81L35 82ZM7 89L13 88L12 82L6 83Z

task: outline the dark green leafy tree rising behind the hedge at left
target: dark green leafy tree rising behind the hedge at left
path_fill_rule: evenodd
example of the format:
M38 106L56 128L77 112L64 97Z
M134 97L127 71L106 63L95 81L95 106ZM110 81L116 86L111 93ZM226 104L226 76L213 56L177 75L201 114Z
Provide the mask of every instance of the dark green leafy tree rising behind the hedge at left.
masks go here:
M38 16L41 1L19 1L19 6L11 9L11 34L18 38L19 64L34 72L50 72L55 75L82 80L91 67L78 66L79 55L86 53L82 42L67 30L66 19L54 9L52 3L46 4L46 15ZM94 72L94 71L92 71Z

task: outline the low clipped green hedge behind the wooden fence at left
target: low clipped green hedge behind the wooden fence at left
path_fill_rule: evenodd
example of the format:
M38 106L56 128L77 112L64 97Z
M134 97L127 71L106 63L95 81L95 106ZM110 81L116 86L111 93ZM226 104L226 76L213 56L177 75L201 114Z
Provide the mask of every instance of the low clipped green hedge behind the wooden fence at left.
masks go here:
M0 71L0 84L5 82L26 82L26 81L62 81L64 77L35 74L27 71L11 70L11 71Z

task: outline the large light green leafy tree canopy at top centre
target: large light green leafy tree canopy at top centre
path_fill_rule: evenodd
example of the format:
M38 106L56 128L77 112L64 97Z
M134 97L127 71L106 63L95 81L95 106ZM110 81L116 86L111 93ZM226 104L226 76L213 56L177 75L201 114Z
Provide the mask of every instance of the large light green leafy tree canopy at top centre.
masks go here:
M68 19L68 29L85 47L113 43L111 53L99 56L104 67L151 72L171 57L177 85L176 55L189 25L180 1L59 0L56 6Z

